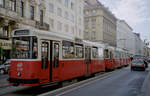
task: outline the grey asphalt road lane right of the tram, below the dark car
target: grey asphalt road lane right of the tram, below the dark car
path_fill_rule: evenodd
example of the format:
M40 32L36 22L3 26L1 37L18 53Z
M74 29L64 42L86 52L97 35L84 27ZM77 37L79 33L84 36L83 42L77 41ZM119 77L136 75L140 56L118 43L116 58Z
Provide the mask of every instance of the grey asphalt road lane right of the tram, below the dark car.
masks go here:
M143 96L141 88L149 69L130 71L129 67L96 80L86 86L60 93L57 96Z

